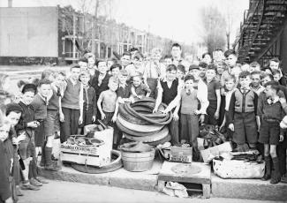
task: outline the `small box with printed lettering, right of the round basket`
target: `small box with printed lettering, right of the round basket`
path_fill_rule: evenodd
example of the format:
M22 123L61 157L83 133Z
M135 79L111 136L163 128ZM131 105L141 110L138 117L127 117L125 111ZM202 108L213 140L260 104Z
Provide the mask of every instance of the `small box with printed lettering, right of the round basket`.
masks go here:
M193 162L193 147L170 147L171 162Z

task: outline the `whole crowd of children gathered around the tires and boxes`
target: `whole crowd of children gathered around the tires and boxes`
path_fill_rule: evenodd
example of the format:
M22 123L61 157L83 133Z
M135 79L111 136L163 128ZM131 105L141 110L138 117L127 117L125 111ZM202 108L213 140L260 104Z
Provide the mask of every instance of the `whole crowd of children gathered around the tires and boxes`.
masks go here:
M153 97L154 112L162 102L167 105L162 113L172 112L172 145L188 143L194 156L200 156L200 124L215 125L218 130L227 130L238 151L246 144L264 148L266 173L262 179L271 178L271 184L285 181L287 142L280 122L287 112L287 87L278 59L271 59L263 69L256 62L238 64L236 53L227 50L221 60L214 58L212 62L212 56L205 54L200 63L190 64L181 51L179 44L173 44L171 56L162 61L160 49L153 49L145 61L138 49L132 49L120 61L97 60L95 64L94 56L86 55L67 74L46 70L36 84L20 82L21 93L14 102L7 94L9 77L1 75L5 117L1 120L0 149L7 154L9 166L1 176L14 177L18 195L19 188L39 190L47 182L38 176L37 165L61 169L52 155L53 139L60 138L63 143L99 119L114 127L117 148L123 137L115 124L119 105ZM2 201L11 197L9 190L1 190Z

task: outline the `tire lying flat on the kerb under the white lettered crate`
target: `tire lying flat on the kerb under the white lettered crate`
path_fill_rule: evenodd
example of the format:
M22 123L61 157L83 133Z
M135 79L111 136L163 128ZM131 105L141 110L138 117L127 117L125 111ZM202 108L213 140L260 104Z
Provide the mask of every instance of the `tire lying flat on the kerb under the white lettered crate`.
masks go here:
M90 174L108 173L108 172L122 168L123 163L122 163L121 153L117 150L112 150L111 155L112 155L112 158L114 158L114 161L102 167L87 166L87 165L81 165L77 163L72 163L71 166L73 169L76 169L79 172L90 173Z

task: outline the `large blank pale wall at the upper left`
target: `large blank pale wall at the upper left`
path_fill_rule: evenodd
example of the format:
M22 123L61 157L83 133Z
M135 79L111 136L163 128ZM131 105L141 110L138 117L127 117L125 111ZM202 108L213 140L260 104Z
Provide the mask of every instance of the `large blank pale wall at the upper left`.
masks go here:
M57 7L0 8L0 56L57 57Z

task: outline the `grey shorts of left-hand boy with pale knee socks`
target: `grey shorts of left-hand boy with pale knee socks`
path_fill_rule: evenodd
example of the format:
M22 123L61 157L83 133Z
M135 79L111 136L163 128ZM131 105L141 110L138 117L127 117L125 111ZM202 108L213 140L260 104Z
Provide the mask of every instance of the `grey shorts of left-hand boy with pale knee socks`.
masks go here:
M60 131L60 119L57 110L47 110L47 118L44 120L44 135L52 136Z

